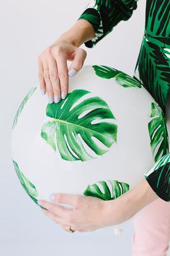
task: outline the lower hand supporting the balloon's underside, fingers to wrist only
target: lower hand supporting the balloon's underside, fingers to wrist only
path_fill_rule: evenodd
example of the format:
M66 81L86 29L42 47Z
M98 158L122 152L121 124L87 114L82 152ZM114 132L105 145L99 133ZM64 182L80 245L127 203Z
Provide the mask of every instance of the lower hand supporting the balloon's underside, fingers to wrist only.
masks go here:
M47 210L42 210L55 223L60 224L66 231L94 231L107 226L108 216L105 202L97 197L83 195L55 194L53 202L72 205L73 208L64 208L53 202L38 201Z

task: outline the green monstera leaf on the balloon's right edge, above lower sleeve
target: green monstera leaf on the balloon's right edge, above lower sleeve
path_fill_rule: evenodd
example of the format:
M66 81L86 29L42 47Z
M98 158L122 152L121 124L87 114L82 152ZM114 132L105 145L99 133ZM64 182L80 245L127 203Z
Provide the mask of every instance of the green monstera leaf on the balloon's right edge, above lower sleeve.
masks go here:
M151 117L148 123L148 131L151 137L151 148L155 162L161 156L169 152L169 136L166 128L166 120L157 103L151 103Z

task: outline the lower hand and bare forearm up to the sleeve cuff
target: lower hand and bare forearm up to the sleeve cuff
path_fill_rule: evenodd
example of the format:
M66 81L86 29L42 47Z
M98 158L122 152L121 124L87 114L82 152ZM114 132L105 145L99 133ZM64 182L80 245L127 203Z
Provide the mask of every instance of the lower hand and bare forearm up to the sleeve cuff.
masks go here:
M66 231L71 226L74 231L86 232L128 221L158 196L145 179L115 200L106 201L97 197L64 193L52 194L50 198L53 202L38 200L46 209L42 209L45 216L60 224ZM71 205L72 208L58 203Z

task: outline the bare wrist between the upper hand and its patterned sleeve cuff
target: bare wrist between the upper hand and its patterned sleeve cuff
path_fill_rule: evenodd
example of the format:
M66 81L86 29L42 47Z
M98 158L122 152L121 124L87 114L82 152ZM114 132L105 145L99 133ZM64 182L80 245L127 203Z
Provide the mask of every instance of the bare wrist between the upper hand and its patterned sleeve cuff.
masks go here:
M95 37L94 28L86 20L78 20L69 30L63 33L58 40L66 40L79 47L82 43Z

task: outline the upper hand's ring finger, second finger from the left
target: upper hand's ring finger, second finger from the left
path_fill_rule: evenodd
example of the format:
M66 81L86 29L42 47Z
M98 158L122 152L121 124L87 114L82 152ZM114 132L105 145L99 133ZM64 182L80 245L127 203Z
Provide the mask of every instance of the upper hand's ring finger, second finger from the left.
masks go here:
M48 92L48 103L51 104L54 101L53 100L53 87L50 82L48 62L45 59L42 60L42 66L43 66L43 75L44 75L46 90Z

